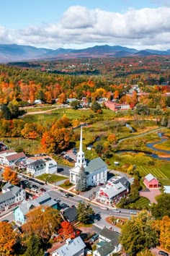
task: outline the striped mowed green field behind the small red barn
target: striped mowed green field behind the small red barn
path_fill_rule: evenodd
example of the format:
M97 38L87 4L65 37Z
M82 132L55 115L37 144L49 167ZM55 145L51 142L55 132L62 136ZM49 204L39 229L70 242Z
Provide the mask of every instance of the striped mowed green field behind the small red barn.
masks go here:
M138 166L137 169L143 177L147 174L153 174L153 176L156 176L162 185L170 185L170 163L167 163L166 166L162 166L160 168Z

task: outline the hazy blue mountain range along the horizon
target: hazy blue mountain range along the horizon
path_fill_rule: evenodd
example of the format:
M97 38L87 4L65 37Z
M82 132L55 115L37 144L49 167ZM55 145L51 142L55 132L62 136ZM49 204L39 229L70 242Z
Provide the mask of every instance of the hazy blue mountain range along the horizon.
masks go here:
M36 48L33 46L21 46L17 44L0 44L0 63L12 61L32 61L40 59L76 59L76 58L97 58L97 57L126 57L126 56L149 56L149 55L170 55L170 49L157 51L146 49L138 51L135 48L123 46L94 46L90 48L56 50L48 48Z

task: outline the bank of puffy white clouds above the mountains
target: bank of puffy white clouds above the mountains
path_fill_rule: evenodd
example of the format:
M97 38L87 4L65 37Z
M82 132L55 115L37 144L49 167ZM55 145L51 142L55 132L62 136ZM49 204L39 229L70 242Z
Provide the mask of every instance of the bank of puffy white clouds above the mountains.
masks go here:
M142 48L170 48L170 8L129 9L120 14L101 9L73 6L57 24L6 30L0 27L0 43L19 43L37 47L84 48L110 45Z

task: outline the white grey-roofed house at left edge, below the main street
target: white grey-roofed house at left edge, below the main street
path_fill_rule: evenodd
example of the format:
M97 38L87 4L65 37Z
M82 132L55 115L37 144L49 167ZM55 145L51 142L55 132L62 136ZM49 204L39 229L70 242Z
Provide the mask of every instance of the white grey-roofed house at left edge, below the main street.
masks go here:
M2 194L0 195L0 211L8 209L12 205L19 204L24 199L24 189L6 183L4 187L2 187Z

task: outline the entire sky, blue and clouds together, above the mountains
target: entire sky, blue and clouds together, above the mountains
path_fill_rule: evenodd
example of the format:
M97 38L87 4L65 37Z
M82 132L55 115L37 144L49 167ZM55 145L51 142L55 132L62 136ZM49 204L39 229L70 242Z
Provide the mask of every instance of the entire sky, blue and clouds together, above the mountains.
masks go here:
M170 48L169 0L0 0L0 43Z

